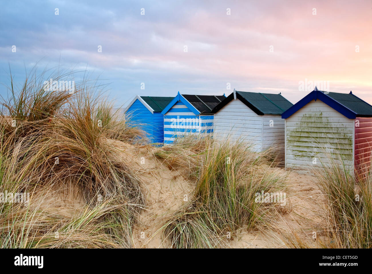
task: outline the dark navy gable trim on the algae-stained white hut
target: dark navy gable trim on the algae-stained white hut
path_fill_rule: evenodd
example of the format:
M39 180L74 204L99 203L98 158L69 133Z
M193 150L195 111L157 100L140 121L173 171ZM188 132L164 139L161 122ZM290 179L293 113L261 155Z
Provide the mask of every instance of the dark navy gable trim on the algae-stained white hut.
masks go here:
M282 118L287 119L289 116L294 114L296 111L300 110L302 107L304 107L306 104L310 103L312 100L317 101L319 99L323 103L329 105L334 110L337 110L342 115L346 116L349 119L355 119L356 113L349 108L345 107L343 104L337 102L336 100L329 97L327 94L324 94L321 91L313 90L308 95L306 95L304 98L299 100L296 104L292 105L292 107L288 108L288 110L284 111L282 113Z

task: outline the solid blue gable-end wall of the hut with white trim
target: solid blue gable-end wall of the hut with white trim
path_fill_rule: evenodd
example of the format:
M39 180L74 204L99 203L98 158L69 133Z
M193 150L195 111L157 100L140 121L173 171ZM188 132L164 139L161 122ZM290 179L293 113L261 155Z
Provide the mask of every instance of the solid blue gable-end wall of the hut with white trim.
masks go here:
M129 117L132 126L138 126L147 132L147 137L154 142L154 125L153 114L148 110L140 100L135 100L131 107L125 112L126 117Z

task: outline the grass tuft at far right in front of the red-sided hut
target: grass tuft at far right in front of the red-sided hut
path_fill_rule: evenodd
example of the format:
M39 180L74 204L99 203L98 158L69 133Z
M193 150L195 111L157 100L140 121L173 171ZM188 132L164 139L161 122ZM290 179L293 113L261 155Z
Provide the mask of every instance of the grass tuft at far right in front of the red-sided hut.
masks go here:
M327 248L371 248L372 246L372 169L358 178L343 159L315 171L318 186L325 195Z

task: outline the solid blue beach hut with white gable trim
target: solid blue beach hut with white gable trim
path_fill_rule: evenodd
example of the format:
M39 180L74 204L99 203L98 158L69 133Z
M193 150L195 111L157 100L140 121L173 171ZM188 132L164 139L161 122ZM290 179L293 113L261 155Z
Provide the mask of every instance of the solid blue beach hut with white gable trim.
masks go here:
M124 109L133 125L140 126L148 133L152 143L164 141L164 116L161 111L174 97L156 97L137 95Z

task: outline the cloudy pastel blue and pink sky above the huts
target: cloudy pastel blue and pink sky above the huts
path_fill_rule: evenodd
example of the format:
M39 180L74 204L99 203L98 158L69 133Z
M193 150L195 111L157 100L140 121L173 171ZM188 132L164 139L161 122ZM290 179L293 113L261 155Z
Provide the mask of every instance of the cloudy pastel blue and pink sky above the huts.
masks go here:
M371 0L12 0L0 9L1 96L9 67L18 85L36 67L74 71L76 82L88 75L124 105L137 94L234 88L296 103L314 82L372 104L371 64Z

